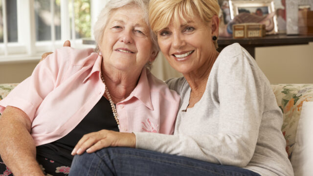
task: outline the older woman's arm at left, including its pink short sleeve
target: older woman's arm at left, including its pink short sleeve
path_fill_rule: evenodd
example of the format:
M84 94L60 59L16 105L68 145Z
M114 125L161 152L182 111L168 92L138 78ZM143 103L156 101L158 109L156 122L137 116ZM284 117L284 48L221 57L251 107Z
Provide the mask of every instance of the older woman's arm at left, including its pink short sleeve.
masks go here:
M35 141L30 135L35 113L67 70L62 52L49 55L32 75L0 101L0 155L14 175L39 176ZM58 79L59 78L59 79Z

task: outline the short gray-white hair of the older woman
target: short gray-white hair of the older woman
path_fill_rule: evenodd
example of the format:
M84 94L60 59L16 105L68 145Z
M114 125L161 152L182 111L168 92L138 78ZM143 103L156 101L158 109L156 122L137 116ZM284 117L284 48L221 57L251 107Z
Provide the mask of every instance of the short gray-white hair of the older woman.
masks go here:
M111 13L117 8L126 6L126 5L134 5L142 9L144 13L144 20L147 23L150 30L150 38L152 41L152 49L157 53L160 49L157 44L156 34L151 30L149 17L148 17L148 5L149 0L110 0L106 6L101 10L98 20L94 25L93 34L97 44L96 51L98 51L98 44L101 43L103 39L104 29L106 28L107 22L109 22Z

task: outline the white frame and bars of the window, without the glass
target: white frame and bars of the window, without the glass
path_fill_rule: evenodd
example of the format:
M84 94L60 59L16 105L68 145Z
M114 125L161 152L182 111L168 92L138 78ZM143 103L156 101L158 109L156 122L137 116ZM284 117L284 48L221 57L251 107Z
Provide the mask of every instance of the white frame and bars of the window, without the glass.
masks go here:
M3 44L0 44L0 63L39 60L43 53L62 47L66 40L70 40L71 46L75 48L94 47L94 45L82 44L82 39L75 39L74 32L72 32L73 35L70 36L70 25L74 30L74 21L70 21L68 14L70 1L73 2L73 0L61 0L61 40L55 40L55 28L52 23L51 40L36 42L34 0L17 0L18 42L7 42L6 18L4 15L4 37ZM91 28L100 10L107 1L109 0L90 0ZM54 15L53 5L54 0L50 0L50 11L52 11L51 20ZM5 0L2 0L2 8L3 14L5 14ZM91 38L93 38L92 32Z

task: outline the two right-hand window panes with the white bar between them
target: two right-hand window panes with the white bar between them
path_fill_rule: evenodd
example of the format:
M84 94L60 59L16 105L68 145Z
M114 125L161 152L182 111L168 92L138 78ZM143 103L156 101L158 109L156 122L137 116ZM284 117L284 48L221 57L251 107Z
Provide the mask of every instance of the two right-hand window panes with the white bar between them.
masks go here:
M71 39L80 47L90 37L90 0L35 0L36 51L61 47Z

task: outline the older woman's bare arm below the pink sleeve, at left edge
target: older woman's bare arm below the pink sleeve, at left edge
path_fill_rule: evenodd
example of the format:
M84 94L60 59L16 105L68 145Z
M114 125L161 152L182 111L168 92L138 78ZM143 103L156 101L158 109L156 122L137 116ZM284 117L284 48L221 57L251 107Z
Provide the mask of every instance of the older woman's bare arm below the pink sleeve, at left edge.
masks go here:
M44 176L36 161L30 135L31 122L25 112L8 106L0 118L0 155L15 176Z

